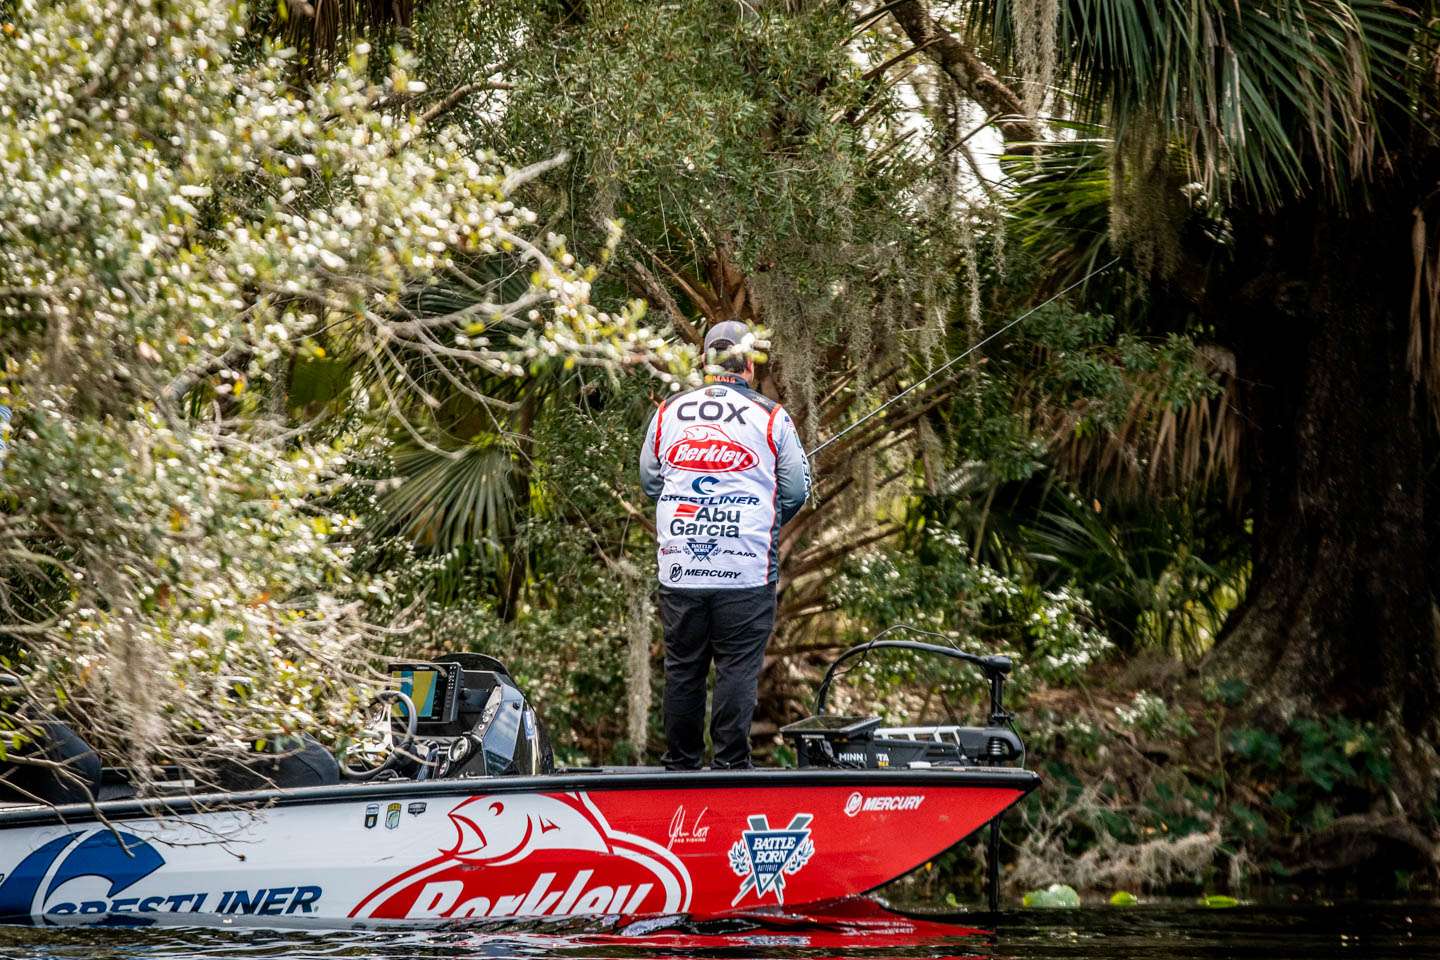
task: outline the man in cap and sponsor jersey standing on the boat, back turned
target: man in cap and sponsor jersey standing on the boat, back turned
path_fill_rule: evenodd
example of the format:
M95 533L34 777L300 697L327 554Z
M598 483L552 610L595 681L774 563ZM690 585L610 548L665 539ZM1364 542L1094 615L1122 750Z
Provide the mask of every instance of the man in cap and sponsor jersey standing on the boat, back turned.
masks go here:
M724 373L667 399L639 452L655 501L660 619L665 633L665 743L671 770L704 757L706 679L716 665L710 740L717 770L750 766L750 718L775 626L779 533L809 497L795 423L757 393L740 321L706 334Z

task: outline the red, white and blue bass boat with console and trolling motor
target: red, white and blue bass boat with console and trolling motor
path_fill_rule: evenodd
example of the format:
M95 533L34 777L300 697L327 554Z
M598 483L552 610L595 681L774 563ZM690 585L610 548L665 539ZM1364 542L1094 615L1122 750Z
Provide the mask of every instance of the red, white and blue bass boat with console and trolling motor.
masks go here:
M982 669L988 724L825 712L837 668L881 648ZM176 780L138 797L107 769L94 803L0 805L0 920L716 918L854 897L998 825L1038 784L1005 712L1009 669L871 640L831 664L815 715L782 730L795 769L667 771L556 767L492 658L403 664L376 717L383 751L341 761L334 783L196 793Z

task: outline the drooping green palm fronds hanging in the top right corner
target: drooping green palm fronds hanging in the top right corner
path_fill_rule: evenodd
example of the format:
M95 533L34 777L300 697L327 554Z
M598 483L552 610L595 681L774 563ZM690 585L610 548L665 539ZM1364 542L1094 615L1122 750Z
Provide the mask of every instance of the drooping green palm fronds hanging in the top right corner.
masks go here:
M971 29L1012 53L1018 1L972 0ZM1176 131L1208 193L1274 206L1374 173L1423 30L1387 0L1070 0L1058 33L1086 119Z

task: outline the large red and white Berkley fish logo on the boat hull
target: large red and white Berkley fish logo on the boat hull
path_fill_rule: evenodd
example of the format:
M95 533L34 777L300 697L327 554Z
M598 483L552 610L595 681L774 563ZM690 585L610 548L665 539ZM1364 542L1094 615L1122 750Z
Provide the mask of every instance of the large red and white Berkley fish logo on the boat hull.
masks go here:
M351 917L677 914L684 864L609 826L583 793L481 794L449 812L455 845L367 895Z

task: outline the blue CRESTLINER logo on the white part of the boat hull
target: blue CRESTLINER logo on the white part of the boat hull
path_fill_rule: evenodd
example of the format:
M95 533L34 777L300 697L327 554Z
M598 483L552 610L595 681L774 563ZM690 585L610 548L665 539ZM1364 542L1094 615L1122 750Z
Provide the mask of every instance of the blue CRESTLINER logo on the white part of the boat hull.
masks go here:
M166 858L154 845L127 830L104 828L66 833L0 875L0 917L45 917L48 921L96 917L99 923L121 923L118 917L124 917L124 923L131 924L148 923L144 914L281 917L314 913L323 892L320 887L219 892L157 889L154 882L145 881L164 865Z

